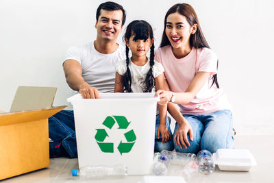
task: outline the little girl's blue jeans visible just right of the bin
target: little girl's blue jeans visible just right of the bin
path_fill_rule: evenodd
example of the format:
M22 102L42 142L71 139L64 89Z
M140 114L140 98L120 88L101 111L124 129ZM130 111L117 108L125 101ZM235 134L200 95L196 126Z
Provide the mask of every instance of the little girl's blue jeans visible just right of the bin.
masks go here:
M155 145L154 145L154 151L160 152L162 150L168 150L173 151L174 145L173 145L173 135L171 132L171 127L169 126L169 119L166 116L166 127L169 130L169 133L171 133L171 140L167 141L166 143L162 143L162 135L160 134L160 138L157 137L157 130L160 125L160 115L157 114L156 116L156 124L155 124Z

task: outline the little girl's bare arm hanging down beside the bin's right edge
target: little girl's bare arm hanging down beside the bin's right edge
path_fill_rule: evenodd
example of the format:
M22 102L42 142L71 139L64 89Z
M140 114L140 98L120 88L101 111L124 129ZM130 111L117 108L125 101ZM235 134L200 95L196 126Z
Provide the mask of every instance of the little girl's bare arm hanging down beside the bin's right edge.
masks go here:
M164 73L155 77L155 86L156 90L164 90L165 89L165 80L164 80ZM171 134L166 127L166 112L167 112L167 105L159 105L159 115L160 115L160 125L158 127L157 136L160 138L160 134L162 135L162 143L166 143L171 138Z

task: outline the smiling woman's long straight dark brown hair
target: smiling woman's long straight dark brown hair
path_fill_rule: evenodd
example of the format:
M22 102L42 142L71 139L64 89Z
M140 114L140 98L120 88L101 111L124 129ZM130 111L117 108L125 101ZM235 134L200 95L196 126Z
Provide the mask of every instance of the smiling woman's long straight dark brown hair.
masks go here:
M206 41L205 36L203 36L203 32L201 31L201 26L195 10L192 8L191 5L187 3L177 3L173 5L171 8L169 8L169 10L166 12L166 16L164 17L164 32L162 34L162 42L160 44L160 47L171 45L171 42L169 42L169 38L167 38L166 32L165 32L166 19L170 14L173 14L175 12L178 12L179 14L182 14L183 16L185 16L190 26L194 24L198 25L197 31L195 32L195 34L190 35L190 46L195 47L196 49L203 48L203 47L210 48L210 46L208 45L208 42ZM218 69L218 62L217 62L217 69ZM216 84L217 88L219 88L217 74L214 74L212 76L212 85L213 84Z

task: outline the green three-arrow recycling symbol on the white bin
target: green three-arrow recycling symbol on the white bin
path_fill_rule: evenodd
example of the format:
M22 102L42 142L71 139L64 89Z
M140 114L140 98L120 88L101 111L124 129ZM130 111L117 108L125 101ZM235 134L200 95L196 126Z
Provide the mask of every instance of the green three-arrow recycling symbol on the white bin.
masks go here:
M123 116L108 116L103 121L103 125L108 127L110 130L112 129L113 125L117 123L119 125L118 129L127 129L130 122ZM105 153L113 153L114 152L114 143L103 143L105 138L108 136L108 133L105 129L96 129L97 133L95 134L95 140L99 145L101 151ZM129 130L124 134L127 143L119 143L117 149L119 150L120 154L128 153L132 150L132 147L136 141L136 135L133 130Z

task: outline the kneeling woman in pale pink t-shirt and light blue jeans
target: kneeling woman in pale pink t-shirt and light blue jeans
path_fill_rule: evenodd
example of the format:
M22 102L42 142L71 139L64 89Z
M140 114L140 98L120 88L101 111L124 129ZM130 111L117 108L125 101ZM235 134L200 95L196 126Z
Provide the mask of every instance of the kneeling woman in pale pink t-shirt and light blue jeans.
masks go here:
M179 104L188 121L175 125L175 150L197 153L208 149L213 153L232 148L232 112L217 82L218 58L208 46L191 5L176 4L166 13L155 60L164 66L166 80L175 92L158 90L159 103Z

